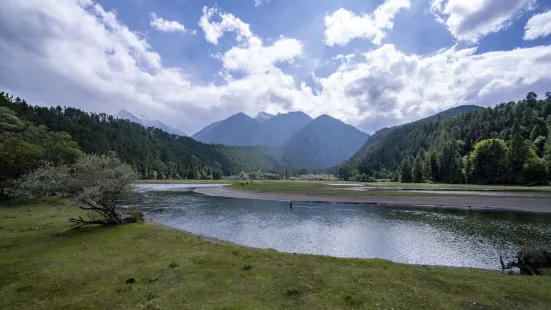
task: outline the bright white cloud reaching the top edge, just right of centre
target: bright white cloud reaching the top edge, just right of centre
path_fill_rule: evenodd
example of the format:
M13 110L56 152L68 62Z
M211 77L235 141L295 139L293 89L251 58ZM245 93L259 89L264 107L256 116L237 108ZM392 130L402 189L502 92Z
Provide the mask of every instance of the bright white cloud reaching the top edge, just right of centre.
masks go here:
M346 45L353 39L363 38L380 45L386 32L394 27L396 14L409 7L410 0L386 0L373 13L363 16L340 8L325 16L325 44Z

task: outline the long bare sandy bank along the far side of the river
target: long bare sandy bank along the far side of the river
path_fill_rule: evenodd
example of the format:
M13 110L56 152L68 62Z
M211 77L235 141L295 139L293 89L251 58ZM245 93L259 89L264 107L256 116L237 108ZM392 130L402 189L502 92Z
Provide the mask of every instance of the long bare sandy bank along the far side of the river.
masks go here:
M476 208L488 210L506 210L520 212L551 213L551 199L543 198L516 198L516 197L487 197L469 195L381 195L364 196L354 194L303 194L292 192L257 192L253 190L236 189L228 187L198 188L195 192L218 197L264 199L282 201L308 201L329 203L358 203L358 204L388 204L388 205L412 205L423 207L453 207Z

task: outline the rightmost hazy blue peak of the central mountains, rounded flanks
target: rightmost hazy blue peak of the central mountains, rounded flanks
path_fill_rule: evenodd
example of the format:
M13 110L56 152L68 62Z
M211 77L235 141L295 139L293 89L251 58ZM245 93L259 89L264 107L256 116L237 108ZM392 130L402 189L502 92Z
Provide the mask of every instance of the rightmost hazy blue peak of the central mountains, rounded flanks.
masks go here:
M324 169L355 154L369 135L328 115L304 126L283 147L283 161L291 168Z

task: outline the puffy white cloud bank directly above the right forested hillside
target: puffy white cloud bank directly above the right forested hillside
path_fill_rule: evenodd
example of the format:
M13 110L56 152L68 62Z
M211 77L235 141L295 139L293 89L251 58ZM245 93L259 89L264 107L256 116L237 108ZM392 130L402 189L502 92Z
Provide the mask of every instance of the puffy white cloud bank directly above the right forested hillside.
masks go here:
M383 45L320 78L322 96L338 116L377 128L457 105L520 99L551 81L551 46L475 52L452 47L423 57Z

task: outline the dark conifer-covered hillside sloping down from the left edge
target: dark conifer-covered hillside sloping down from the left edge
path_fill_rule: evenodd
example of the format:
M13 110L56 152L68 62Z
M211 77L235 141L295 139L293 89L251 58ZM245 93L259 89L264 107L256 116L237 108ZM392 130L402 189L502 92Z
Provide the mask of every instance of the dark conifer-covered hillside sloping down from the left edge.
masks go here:
M144 178L220 178L242 170L280 167L265 148L204 144L104 113L31 106L4 93L0 93L0 106L23 121L42 125L44 131L68 133L85 153L115 151ZM8 147L4 141L2 146Z

